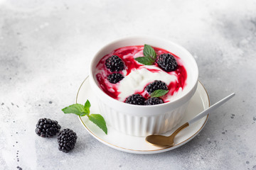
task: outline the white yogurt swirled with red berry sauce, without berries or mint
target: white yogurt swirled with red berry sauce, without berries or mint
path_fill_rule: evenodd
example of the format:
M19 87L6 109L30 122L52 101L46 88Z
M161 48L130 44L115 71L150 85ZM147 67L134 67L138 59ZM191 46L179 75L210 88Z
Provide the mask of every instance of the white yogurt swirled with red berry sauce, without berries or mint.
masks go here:
M153 48L157 57L164 53L174 55L161 48ZM161 96L164 103L180 96L183 93L183 89L186 88L187 81L187 72L181 58L174 55L178 64L177 69L173 72L165 72L157 64L143 65L134 60L136 57L143 56L143 49L143 45L120 47L102 57L95 71L95 77L100 89L112 98L124 102L132 94L141 94L144 98L149 98L149 94L144 90L145 87L154 80L161 80L166 83L169 89L168 94ZM105 61L112 55L120 57L125 64L124 70L117 72L122 74L124 79L117 84L112 84L107 80L107 76L113 72L107 69Z

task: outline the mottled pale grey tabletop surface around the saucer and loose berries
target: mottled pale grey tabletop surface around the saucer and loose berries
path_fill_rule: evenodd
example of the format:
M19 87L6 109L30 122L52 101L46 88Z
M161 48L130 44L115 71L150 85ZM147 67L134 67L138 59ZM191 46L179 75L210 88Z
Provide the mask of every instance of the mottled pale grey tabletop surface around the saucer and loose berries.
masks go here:
M239 0L0 0L0 169L256 169L255 8ZM128 35L186 47L211 103L237 94L178 149L120 152L60 111L75 103L95 52ZM73 152L35 134L44 117L77 132Z

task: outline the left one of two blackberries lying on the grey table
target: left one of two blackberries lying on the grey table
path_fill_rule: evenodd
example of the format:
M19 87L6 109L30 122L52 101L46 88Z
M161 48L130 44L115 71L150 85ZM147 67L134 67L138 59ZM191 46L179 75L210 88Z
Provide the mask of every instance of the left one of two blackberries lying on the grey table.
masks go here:
M36 134L41 137L51 137L60 132L60 125L55 120L41 118L36 124Z

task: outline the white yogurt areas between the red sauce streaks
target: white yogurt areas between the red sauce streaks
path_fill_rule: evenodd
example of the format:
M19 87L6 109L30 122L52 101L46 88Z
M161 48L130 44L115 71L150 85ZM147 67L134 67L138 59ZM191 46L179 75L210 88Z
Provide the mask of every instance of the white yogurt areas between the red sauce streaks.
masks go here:
M127 50L127 47L124 47L124 49L121 50L119 49L117 52L122 52L122 50ZM158 52L163 53L161 50ZM99 62L95 70L95 74L98 74L100 77L102 77L105 87L110 93L115 93L116 91L119 93L116 98L119 101L124 102L125 99L132 94L142 94L142 96L145 96L144 94L147 92L144 91L144 88L155 80L163 81L167 86L169 86L171 83L178 83L178 75L176 72L167 73L156 65L142 65L138 69L132 69L128 75L127 68L122 72L119 72L124 75L124 79L119 81L117 84L111 84L109 81L107 81L107 76L111 73L109 71L106 72L105 67L105 60L107 60L107 58L111 55L114 55L114 52L111 52L109 55L102 59L102 62ZM122 60L126 60L129 57L136 58L141 56L143 56L143 47L137 47L136 52L132 53L132 55L127 54L122 56ZM178 65L183 65L183 61L181 61L181 59L176 58L176 60ZM134 60L134 62L137 61ZM152 69L154 71L151 72ZM99 82L97 83L99 84ZM102 84L99 84L99 86L102 89ZM184 86L186 86L186 84ZM180 87L179 89L176 89L175 92L170 90L168 94L162 96L161 98L164 100L164 102L167 102L178 98L182 94L183 89Z

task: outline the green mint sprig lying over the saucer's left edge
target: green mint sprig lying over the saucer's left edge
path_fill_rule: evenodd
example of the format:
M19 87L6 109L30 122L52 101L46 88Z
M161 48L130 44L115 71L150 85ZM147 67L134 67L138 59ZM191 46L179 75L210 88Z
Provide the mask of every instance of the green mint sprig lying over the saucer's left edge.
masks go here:
M95 123L95 125L97 125L100 129L102 129L107 135L107 125L106 125L105 119L100 114L90 114L90 106L91 106L90 101L87 100L85 102L85 106L83 106L82 104L76 103L63 108L61 111L63 111L63 113L73 113L79 116L87 115L89 120L92 121L92 123Z

